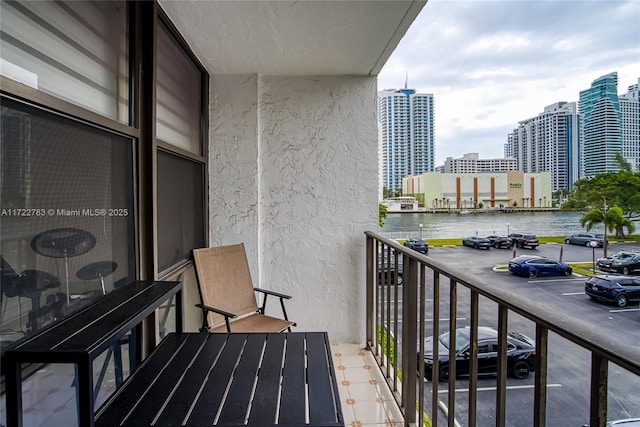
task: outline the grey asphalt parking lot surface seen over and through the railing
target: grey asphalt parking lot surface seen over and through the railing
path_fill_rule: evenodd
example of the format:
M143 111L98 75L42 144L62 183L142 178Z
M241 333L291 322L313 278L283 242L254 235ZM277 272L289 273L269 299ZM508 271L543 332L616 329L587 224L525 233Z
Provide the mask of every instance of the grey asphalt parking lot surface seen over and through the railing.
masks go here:
M608 253L619 250L638 250L640 244L610 244ZM518 249L517 255L537 254L558 259L562 251L564 262L592 262L603 256L603 249L576 245L540 245L538 249ZM506 265L513 257L508 249L477 250L470 247L432 247L429 256L456 269L472 275L478 280L513 290L518 296L544 305L558 314L566 322L584 322L592 327L602 340L626 343L638 349L640 358L640 307L632 303L628 307L618 308L590 300L584 293L584 276L553 276L528 279L514 276L508 271L497 271L496 265ZM441 294L446 295L442 290ZM458 291L458 327L469 324L469 292L460 287ZM427 301L425 312L427 329L433 319L432 300ZM440 306L440 332L448 329L447 304ZM497 325L497 306L481 298L480 323L486 326ZM509 330L517 330L535 338L535 325L516 313L509 313ZM433 331L429 331L428 335ZM605 341L603 341L605 342ZM549 336L547 425L582 426L589 420L589 389L591 355L586 350L551 333ZM530 426L533 419L533 375L524 380L508 379L507 425L513 427ZM496 377L489 376L479 380L478 425L493 426L495 417ZM431 383L426 384L429 389ZM456 420L460 425L467 422L468 380L456 381ZM448 400L446 390L438 393L440 407L446 409ZM640 417L640 378L611 364L609 367L608 419ZM426 393L425 407L431 408L431 394ZM442 415L441 415L442 416ZM444 418L439 420L444 423Z

